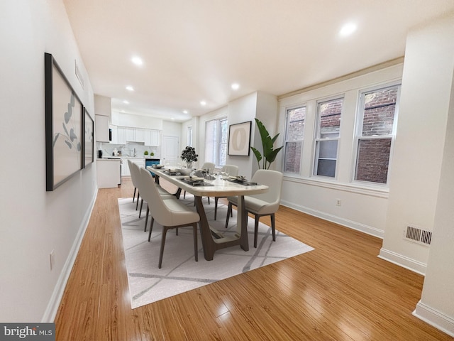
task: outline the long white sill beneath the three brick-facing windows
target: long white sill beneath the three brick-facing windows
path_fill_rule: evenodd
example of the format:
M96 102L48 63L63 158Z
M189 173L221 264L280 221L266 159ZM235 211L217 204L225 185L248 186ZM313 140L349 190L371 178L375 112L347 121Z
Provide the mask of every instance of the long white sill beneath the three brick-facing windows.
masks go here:
M384 185L367 185L358 183L338 183L333 180L324 180L319 178L301 178L296 175L284 174L284 181L293 183L301 183L304 185L330 188L332 190L343 190L345 192L357 193L362 195L370 195L372 197L389 196L389 188Z

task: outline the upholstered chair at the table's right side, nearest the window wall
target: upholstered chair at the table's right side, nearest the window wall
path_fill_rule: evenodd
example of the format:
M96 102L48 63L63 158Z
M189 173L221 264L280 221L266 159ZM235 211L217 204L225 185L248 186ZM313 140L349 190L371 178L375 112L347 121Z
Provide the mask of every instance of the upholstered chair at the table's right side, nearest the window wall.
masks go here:
M255 216L254 247L257 247L259 219L265 215L270 215L272 240L276 241L275 212L279 209L281 202L282 178L283 175L280 172L268 169L259 169L255 172L251 181L260 183L260 185L267 185L270 189L267 193L245 195L244 197L245 210ZM232 206L238 206L238 197L228 197L227 199L228 209L226 228L228 226L228 217L232 212Z

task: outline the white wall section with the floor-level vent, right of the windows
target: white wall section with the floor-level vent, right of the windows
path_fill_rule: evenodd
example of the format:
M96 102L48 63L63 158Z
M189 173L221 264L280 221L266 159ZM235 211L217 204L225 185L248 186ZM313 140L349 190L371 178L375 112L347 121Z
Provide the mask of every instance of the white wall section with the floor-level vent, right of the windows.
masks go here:
M429 248L403 239L407 225L433 231L454 70L454 19L409 33L386 229L380 256L426 271Z

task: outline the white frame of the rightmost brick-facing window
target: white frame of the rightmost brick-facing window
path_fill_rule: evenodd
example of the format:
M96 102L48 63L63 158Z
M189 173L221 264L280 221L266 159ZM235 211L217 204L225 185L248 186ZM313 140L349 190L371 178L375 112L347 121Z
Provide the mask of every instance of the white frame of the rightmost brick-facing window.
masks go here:
M380 91L392 87L398 87L397 98L396 98L396 108L394 110L394 119L392 126L392 134L387 135L377 135L377 136L362 136L362 124L364 119L364 107L365 107L365 94L368 92ZM391 174L391 164L392 164L392 154L394 151L394 141L396 139L397 131L397 120L399 117L399 102L400 102L400 93L402 90L402 81L391 82L385 85L379 85L375 87L367 87L362 89L358 95L358 107L356 111L356 129L355 129L355 138L353 141L353 171L352 171L352 183L357 183L358 185L367 185L367 186L377 186L377 188L389 188L389 175ZM372 140L372 139L391 139L391 146L389 149L389 162L388 162L388 173L386 183L376 183L373 181L365 180L356 180L356 169L358 167L358 152L360 140Z

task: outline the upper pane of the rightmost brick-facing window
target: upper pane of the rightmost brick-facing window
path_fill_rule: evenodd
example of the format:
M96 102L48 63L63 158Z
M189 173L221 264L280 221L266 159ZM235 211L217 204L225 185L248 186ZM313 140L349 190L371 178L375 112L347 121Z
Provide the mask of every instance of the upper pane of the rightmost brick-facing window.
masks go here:
M398 90L399 87L392 87L364 95L362 136L392 134Z

